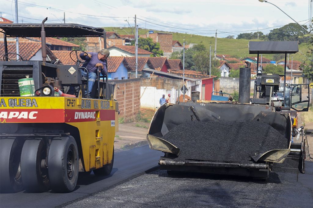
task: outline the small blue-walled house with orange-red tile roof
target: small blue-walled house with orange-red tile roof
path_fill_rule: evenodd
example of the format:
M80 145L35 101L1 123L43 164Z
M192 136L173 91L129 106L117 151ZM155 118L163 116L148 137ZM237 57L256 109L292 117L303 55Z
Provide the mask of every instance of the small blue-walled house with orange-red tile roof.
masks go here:
M110 56L108 62L108 79L109 80L127 80L128 71L131 71L128 63L123 56Z

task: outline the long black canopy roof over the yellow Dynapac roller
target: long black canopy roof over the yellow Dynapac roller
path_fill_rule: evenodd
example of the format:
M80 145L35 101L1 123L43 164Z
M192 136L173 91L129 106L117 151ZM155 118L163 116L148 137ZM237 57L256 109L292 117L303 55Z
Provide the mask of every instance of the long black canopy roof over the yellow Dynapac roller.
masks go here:
M41 24L0 24L8 37L40 37ZM100 37L103 28L79 24L44 24L46 37Z

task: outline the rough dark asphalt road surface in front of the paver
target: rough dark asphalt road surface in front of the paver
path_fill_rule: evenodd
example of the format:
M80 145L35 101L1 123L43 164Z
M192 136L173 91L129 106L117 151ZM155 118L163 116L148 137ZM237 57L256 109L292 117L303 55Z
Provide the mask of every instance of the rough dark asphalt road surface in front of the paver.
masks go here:
M282 171L282 169L280 169ZM245 177L185 174L168 176L156 170L115 187L74 201L66 208L84 207L312 207L313 162L306 173L271 172L268 182Z

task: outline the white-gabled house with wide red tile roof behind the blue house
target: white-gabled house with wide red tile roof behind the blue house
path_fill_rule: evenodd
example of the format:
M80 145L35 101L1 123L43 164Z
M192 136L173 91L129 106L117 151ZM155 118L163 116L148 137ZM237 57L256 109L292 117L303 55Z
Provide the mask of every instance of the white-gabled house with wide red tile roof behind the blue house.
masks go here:
M110 46L108 47L110 56L135 56L135 46ZM138 57L150 57L152 53L150 51L138 48Z

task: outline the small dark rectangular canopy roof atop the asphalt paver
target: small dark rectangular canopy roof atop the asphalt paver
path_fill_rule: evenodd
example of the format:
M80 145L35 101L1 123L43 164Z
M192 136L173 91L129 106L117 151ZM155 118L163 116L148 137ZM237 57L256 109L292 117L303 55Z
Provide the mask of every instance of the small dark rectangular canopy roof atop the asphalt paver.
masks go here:
M250 41L249 54L296 53L298 41Z

